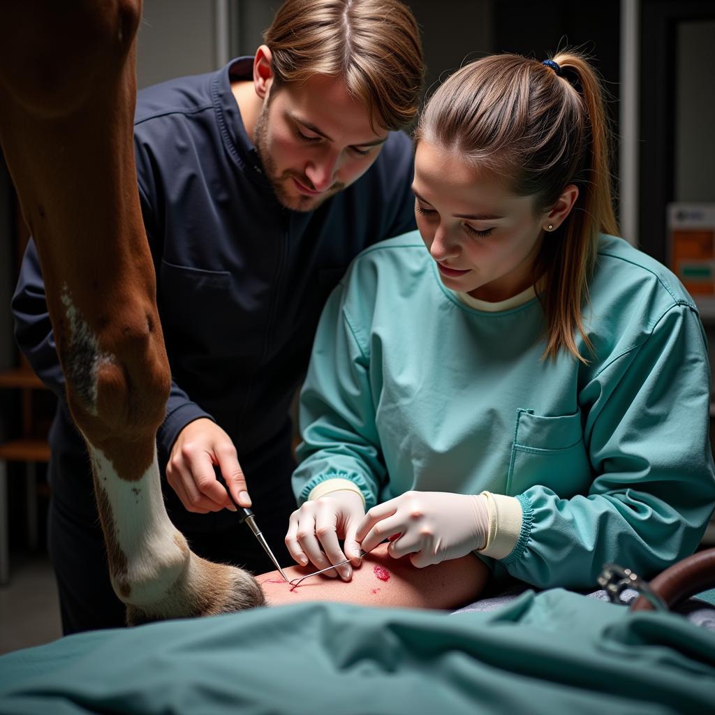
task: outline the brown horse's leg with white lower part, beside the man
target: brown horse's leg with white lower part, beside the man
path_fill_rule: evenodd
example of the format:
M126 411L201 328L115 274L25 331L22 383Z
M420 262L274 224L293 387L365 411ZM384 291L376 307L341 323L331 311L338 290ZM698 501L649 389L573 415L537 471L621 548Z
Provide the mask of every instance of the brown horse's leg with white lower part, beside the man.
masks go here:
M0 22L0 142L130 623L263 602L248 573L191 553L162 501L170 378L134 165L140 16L141 0L24 0Z

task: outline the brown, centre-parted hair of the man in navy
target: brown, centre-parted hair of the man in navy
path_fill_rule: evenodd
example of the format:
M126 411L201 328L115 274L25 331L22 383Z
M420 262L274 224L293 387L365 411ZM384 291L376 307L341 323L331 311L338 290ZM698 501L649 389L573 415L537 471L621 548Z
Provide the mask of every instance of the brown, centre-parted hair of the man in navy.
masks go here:
M424 66L417 22L398 0L287 0L265 31L276 87L314 74L343 77L373 126L417 113Z

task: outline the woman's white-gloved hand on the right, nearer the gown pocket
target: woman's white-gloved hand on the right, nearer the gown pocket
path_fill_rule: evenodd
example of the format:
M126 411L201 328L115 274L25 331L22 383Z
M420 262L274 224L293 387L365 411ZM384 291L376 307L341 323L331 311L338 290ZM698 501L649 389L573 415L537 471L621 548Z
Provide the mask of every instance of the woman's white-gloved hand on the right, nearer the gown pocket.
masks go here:
M408 491L373 506L355 538L363 551L372 551L390 538L388 553L410 556L423 568L484 548L489 532L486 498L477 494ZM392 538L393 535L400 536Z

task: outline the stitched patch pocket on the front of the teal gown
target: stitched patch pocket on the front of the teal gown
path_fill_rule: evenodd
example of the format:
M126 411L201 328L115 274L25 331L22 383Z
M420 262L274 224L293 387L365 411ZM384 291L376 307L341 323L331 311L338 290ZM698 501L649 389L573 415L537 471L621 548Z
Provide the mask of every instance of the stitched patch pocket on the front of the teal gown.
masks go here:
M581 412L543 417L517 410L506 493L521 494L545 486L561 498L585 494L591 485L591 463L583 444Z

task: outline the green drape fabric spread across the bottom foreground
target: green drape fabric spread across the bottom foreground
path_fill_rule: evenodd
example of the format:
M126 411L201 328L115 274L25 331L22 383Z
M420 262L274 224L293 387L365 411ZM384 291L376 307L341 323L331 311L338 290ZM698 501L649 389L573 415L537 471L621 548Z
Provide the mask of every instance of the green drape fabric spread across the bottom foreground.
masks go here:
M554 589L491 613L305 603L0 658L0 714L705 713L715 632Z

